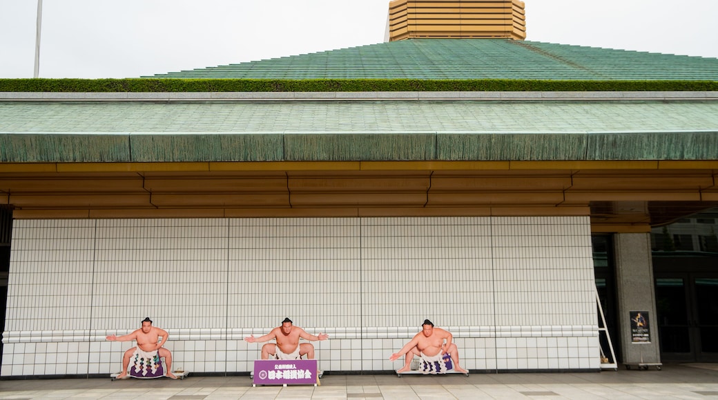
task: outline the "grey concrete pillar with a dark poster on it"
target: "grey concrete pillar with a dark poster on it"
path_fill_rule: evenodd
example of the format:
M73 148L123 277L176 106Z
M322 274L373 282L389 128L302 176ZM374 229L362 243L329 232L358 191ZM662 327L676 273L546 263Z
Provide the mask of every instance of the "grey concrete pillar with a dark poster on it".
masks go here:
M656 292L651 261L651 234L615 234L616 286L618 297L618 329L623 363L660 363ZM633 343L631 311L648 311L651 343Z

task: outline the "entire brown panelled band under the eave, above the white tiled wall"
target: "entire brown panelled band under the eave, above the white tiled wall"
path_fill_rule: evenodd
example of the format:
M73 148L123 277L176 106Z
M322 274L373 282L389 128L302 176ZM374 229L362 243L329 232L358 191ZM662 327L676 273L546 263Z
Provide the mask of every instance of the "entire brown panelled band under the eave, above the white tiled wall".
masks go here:
M156 206L170 209L289 208L287 176L291 177L292 196L308 196L296 197L296 205L317 209L421 207L426 203L426 192L429 190L432 191L429 206L437 208L497 204L494 200L496 196L511 198L506 204L527 201L527 204L554 206L583 206L589 201L718 201L715 161L661 161L660 168L658 161L357 161L254 163L246 169L238 168L236 164L220 163L218 165L226 168L211 172L140 172L126 170L144 164L121 163L103 171L90 171L85 166L87 171L75 168L78 171L65 173L35 171L32 164L14 164L13 168L18 172L0 173L0 204L10 204L19 209L59 209L60 214L65 209L127 208L128 212L133 212L133 209ZM268 169L263 171L260 166ZM335 166L338 170L329 171L327 166ZM142 176L148 188L155 192L152 201L141 187ZM569 186L571 176L573 186ZM561 200L558 196L564 188L567 188L566 197ZM9 191L13 194L9 195ZM159 191L172 197L157 197ZM470 193L465 193L467 191ZM520 191L525 197L517 197L515 191ZM541 193L528 193L531 191ZM545 199L542 200L541 196L551 191L555 193L549 196L556 197L544 203ZM45 192L52 196L39 196ZM456 194L462 192L469 198L457 197ZM215 195L218 193L229 195L230 201L225 203L227 199L218 198ZM328 196L332 193L340 195L339 204L330 204L327 200L331 199ZM407 200L401 196L394 199L392 193L406 194L411 200L405 203ZM232 197L242 194L251 194L256 198L238 201ZM267 194L284 196L280 197L284 200L266 204L264 196ZM446 203L437 203L439 199ZM161 204L155 205L155 201L161 201ZM324 215L321 211L317 212ZM397 213L401 214L400 211ZM626 220L620 219L620 222Z

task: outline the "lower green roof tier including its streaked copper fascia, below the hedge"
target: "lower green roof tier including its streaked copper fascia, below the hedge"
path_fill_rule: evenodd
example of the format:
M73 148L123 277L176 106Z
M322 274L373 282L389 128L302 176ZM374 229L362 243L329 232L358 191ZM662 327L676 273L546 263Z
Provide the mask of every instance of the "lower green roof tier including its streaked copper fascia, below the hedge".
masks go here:
M718 103L9 102L0 162L715 160Z

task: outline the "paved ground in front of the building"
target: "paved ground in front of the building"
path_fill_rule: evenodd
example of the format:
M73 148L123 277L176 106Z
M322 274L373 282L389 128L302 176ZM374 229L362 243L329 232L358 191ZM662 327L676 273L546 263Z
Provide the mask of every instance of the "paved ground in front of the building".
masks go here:
M718 399L718 364L661 371L325 375L321 386L257 386L248 376L0 381L0 399Z

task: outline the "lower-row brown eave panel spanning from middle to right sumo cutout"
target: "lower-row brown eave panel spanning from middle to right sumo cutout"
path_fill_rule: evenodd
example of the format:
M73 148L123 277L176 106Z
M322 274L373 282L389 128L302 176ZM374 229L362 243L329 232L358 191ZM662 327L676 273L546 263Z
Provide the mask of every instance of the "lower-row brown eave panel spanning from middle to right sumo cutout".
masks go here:
M311 193L292 194L293 207L424 206L426 194L399 193Z

